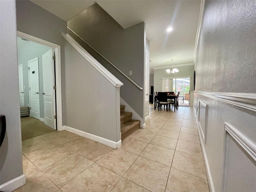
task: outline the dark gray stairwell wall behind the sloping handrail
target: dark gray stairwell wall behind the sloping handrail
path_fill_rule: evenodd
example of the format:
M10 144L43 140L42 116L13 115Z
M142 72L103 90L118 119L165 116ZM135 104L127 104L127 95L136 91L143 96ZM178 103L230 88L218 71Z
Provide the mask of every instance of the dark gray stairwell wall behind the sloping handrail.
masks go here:
M129 76L132 70L132 76L129 77L144 88L144 22L123 29L98 4L94 4L68 21L68 26L126 75ZM144 92L138 90L80 39L68 33L124 84L120 88L120 97L143 119Z

